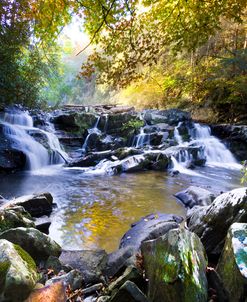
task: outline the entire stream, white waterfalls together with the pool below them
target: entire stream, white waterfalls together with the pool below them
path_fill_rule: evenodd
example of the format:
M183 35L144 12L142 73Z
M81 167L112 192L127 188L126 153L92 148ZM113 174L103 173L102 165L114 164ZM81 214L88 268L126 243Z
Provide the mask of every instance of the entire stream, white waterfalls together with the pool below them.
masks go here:
M98 131L98 122L88 135ZM57 203L52 214L50 235L64 248L113 251L130 224L142 216L152 212L184 216L185 209L173 194L189 185L199 185L215 193L240 186L240 165L231 152L211 136L207 126L195 124L189 143L183 142L175 129L174 137L182 148L203 143L207 163L204 167L188 169L191 155L183 150L178 156L172 156L171 169L180 171L172 177L167 172L153 171L105 175L107 162L94 170L64 168L62 164L67 155L55 134L33 127L27 113L7 113L2 123L6 135L26 154L29 171L1 176L0 195L13 198L50 192ZM45 135L49 150L33 138L34 132ZM83 150L87 147L86 140ZM149 135L146 136L141 129L134 145L139 148L148 143Z

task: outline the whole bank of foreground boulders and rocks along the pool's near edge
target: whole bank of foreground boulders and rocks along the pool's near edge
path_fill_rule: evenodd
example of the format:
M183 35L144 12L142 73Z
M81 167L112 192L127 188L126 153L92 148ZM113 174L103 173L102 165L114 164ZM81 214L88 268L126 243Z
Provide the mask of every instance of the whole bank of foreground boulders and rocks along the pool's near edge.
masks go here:
M62 250L44 234L38 221L52 211L49 193L5 201L0 301L244 301L247 189L215 197L190 187L177 197L190 208L185 226L177 215L148 215L111 254Z

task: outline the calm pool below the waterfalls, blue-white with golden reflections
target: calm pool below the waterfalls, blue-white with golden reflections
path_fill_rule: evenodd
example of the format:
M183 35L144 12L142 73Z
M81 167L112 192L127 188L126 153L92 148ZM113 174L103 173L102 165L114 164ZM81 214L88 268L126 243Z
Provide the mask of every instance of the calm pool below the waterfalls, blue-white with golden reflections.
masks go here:
M64 249L103 248L111 252L130 224L155 212L185 216L173 197L190 185L215 193L240 187L237 169L206 166L174 177L165 172L86 175L81 170L49 166L35 172L1 176L0 195L50 192L57 208L50 236Z

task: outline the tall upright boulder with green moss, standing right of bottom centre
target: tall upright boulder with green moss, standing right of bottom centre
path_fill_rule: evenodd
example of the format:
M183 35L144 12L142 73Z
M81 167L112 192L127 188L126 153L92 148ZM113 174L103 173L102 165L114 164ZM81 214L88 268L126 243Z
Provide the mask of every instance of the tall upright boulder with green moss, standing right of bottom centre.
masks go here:
M144 269L152 302L206 302L207 259L194 233L172 229L142 244Z

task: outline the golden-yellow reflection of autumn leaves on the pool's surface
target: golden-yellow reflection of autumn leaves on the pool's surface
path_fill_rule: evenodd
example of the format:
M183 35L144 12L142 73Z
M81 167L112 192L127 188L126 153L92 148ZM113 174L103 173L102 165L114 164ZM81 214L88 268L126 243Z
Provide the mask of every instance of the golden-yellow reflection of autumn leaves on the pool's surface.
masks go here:
M185 210L172 197L181 187L164 173L147 172L114 176L95 189L94 200L72 196L63 212L62 240L65 245L115 250L131 223L155 212L184 216ZM101 180L98 179L100 182ZM82 190L88 188L82 187ZM88 196L90 197L90 194Z

